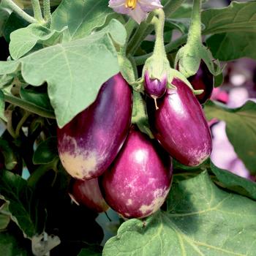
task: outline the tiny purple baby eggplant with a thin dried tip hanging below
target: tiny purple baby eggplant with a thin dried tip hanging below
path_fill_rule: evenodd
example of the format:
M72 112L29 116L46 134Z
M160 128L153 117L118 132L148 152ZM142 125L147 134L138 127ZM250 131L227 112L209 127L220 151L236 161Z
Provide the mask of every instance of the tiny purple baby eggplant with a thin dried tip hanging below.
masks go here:
M155 106L157 107L157 99L162 97L165 94L167 89L167 76L163 75L162 80L157 78L151 79L148 74L148 70L146 70L144 75L144 88L146 94L154 99Z

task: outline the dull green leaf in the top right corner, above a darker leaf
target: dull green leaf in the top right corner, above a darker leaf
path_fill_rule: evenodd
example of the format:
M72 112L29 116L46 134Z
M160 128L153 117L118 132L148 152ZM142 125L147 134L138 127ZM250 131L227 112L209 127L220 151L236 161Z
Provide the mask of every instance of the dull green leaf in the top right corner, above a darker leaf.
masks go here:
M232 3L222 9L209 9L202 12L202 22L206 26L203 34L219 34L224 32L256 31L256 1ZM244 39L244 38L243 38Z

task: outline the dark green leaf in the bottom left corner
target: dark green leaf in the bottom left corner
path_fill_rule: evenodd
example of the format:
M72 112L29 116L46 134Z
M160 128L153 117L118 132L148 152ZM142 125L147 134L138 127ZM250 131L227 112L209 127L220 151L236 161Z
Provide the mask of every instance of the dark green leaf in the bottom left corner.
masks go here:
M3 256L29 256L23 244L10 233L0 233L0 255Z

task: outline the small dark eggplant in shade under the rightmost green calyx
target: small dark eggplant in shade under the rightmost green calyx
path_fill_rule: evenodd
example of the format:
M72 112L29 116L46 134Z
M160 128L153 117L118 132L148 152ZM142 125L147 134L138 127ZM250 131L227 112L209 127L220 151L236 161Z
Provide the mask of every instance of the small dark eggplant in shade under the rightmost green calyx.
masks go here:
M201 61L200 67L195 75L188 78L195 90L202 90L202 94L197 94L196 97L200 104L204 104L210 99L212 91L214 90L214 75L211 74L206 64Z

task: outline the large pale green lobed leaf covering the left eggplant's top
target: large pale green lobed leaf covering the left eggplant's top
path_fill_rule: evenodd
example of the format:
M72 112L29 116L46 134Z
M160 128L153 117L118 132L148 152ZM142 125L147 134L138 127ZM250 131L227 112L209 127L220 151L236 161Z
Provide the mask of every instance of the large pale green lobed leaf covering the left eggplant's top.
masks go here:
M21 64L27 83L47 81L48 94L59 127L94 102L100 86L119 72L112 39L124 44L126 31L117 20L89 37L38 50L18 61L0 61L0 75L14 72Z

